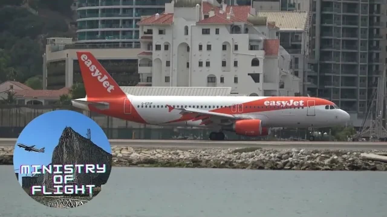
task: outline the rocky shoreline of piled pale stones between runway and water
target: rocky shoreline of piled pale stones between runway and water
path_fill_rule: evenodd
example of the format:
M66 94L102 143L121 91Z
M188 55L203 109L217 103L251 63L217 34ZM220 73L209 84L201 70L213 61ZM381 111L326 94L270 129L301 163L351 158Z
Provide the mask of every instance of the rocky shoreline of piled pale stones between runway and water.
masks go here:
M258 170L374 170L387 163L365 159L377 150L313 149L143 149L112 147L113 166L237 168ZM0 164L12 165L13 147L0 147Z

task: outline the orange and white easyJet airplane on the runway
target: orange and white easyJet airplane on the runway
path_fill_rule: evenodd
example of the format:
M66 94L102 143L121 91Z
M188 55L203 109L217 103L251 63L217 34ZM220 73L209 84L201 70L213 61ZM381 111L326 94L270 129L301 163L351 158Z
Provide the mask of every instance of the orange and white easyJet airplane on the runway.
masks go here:
M269 127L330 127L349 121L333 102L314 97L134 96L124 93L90 52L77 56L86 97L72 105L119 119L204 127L212 130L211 140L224 140L223 131L267 136Z

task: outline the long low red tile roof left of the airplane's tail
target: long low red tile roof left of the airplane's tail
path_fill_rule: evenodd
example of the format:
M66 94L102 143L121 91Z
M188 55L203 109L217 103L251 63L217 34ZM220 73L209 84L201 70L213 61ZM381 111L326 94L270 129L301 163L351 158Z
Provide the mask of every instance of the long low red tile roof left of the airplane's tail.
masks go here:
M16 97L24 98L59 98L63 94L70 93L70 88L60 90L15 90Z

